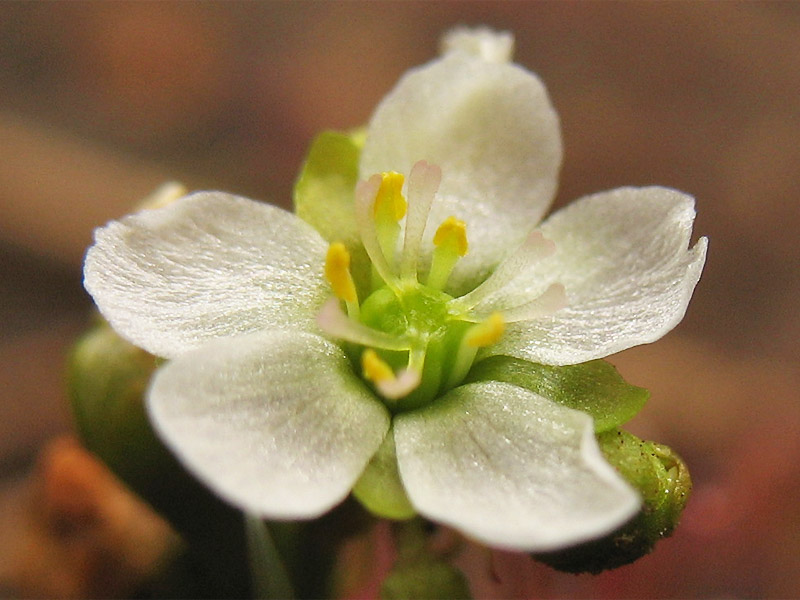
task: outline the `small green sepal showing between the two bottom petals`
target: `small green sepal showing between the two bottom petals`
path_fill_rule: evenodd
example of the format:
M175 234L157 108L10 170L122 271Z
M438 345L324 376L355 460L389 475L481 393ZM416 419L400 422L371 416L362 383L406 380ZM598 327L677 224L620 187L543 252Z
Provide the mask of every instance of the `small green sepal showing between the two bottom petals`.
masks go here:
M404 520L416 516L397 469L393 429L389 429L353 487L353 496L378 517Z

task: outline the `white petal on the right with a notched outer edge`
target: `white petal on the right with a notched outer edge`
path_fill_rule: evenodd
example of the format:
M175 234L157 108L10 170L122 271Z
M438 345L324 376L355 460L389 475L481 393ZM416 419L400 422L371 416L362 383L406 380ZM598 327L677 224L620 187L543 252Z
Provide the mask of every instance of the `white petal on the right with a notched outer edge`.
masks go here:
M497 303L513 306L559 282L567 307L509 325L483 355L566 365L659 339L683 318L705 263L705 238L688 248L694 215L691 196L658 187L620 188L557 212L541 226L555 254Z

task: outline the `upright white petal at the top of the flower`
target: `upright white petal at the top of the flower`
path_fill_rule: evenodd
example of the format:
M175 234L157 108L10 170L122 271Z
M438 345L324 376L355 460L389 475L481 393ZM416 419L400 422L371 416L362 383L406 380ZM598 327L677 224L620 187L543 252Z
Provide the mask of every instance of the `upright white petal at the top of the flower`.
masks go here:
M442 168L422 251L430 254L433 234L447 217L465 221L470 251L456 265L450 288L468 291L550 205L561 164L558 116L529 71L451 52L409 71L378 106L361 178L383 171L408 175L418 160Z

